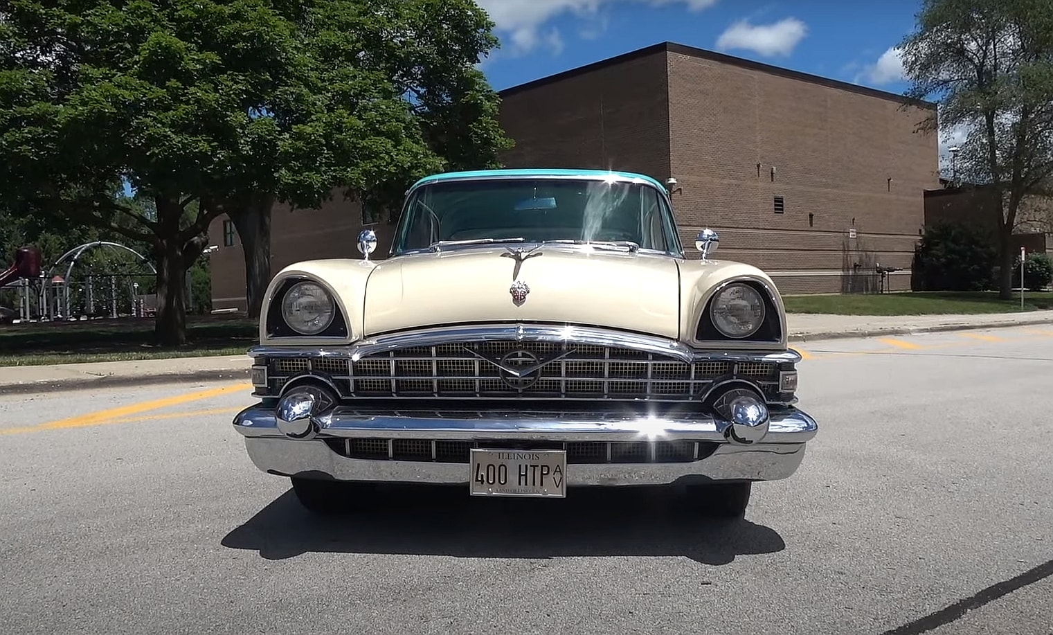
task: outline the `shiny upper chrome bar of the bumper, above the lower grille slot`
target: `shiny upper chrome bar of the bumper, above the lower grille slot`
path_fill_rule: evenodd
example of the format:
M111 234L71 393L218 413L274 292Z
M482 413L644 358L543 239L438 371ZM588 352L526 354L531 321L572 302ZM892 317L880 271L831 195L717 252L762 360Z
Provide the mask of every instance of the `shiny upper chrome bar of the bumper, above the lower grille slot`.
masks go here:
M654 411L652 411L654 412ZM316 438L388 439L524 439L551 441L693 440L724 442L728 421L682 410L661 414L632 411L547 412L494 409L483 412L390 410L337 406L318 417ZM275 410L253 405L234 417L245 437L285 438ZM801 410L771 412L766 443L802 443L818 432L815 419Z

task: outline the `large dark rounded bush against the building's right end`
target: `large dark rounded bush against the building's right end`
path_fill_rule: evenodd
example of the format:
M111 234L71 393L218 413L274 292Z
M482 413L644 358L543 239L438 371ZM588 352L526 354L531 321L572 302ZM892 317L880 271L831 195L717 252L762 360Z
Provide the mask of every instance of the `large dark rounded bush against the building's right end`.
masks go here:
M960 222L934 223L914 251L914 291L986 291L997 261L986 233Z

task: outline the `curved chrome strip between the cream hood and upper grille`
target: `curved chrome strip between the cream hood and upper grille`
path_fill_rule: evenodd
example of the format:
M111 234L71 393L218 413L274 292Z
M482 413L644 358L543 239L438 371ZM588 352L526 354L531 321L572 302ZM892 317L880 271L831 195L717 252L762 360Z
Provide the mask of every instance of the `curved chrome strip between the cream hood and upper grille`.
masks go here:
M754 361L763 363L799 363L801 356L793 349L772 352L739 352L692 349L675 339L653 335L612 331L593 326L555 324L495 324L441 326L402 331L379 335L347 345L278 346L260 345L249 350L252 357L297 358L334 357L357 360L366 355L386 353L405 346L434 346L448 342L484 342L514 340L620 346L645 353L667 355L684 362L698 361ZM724 344L727 342L713 342Z

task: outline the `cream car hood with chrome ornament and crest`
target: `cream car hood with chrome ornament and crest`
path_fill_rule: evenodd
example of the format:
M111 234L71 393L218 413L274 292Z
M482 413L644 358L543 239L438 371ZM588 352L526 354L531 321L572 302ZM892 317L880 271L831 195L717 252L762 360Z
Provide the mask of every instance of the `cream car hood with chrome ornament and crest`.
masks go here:
M679 335L679 270L662 255L542 246L518 261L504 246L398 256L365 289L365 337L466 322L558 322ZM513 282L530 292L519 305Z

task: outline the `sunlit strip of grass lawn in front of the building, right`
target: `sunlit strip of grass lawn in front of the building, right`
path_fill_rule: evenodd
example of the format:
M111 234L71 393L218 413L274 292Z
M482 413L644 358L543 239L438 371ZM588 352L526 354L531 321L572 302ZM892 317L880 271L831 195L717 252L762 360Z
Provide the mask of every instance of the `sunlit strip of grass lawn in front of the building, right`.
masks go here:
M784 296L788 313L835 315L939 315L1013 313L1020 311L1020 294L999 300L996 292L923 292ZM1053 293L1025 292L1024 310L1053 309Z

